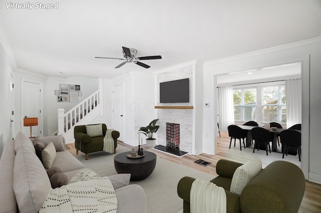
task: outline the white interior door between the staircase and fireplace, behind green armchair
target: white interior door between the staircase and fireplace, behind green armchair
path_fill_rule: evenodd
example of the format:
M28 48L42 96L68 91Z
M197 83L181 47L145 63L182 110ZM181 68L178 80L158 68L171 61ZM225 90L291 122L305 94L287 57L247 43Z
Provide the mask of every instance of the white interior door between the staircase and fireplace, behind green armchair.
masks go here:
M123 85L113 87L113 118L114 129L119 131L118 140L124 141L124 94Z

